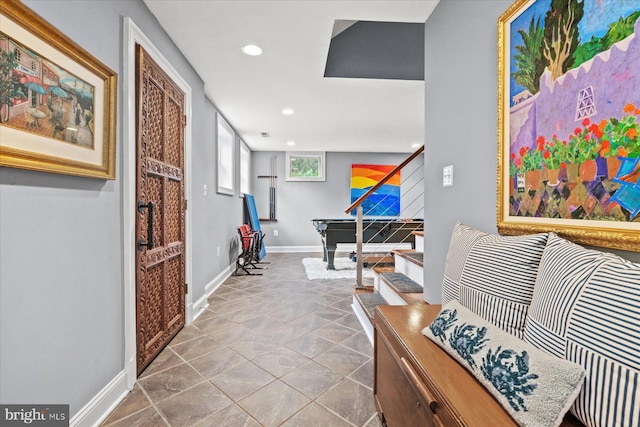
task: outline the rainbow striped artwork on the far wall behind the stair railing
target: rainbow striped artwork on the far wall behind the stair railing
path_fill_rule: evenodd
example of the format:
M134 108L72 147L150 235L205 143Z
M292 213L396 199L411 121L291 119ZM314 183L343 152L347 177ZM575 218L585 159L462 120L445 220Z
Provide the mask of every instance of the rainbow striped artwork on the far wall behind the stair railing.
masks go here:
M351 165L351 203L355 202L379 183L394 165ZM400 215L400 172L378 188L362 204L365 216L399 216ZM351 212L356 215L356 210Z

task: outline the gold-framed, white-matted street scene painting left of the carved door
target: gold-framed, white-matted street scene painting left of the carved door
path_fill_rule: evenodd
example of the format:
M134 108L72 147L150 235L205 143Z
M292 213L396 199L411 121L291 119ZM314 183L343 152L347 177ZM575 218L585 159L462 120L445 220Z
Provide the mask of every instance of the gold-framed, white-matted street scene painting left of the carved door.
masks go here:
M17 0L0 3L0 166L115 179L114 71Z

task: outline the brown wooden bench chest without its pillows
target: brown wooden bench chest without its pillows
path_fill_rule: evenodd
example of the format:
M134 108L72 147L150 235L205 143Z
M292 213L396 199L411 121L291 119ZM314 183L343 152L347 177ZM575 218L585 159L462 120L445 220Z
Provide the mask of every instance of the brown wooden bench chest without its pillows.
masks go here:
M439 305L378 306L374 395L388 427L517 426L497 400L422 329ZM562 427L581 426L568 415Z

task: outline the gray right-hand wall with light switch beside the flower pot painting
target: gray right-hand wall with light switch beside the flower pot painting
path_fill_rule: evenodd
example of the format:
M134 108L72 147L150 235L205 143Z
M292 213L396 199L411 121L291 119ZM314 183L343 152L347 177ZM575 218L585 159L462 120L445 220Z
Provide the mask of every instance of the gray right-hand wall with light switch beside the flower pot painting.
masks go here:
M496 233L497 22L513 4L441 1L425 24L425 300L439 303L462 221ZM442 168L454 165L454 186ZM611 251L634 262L640 253Z

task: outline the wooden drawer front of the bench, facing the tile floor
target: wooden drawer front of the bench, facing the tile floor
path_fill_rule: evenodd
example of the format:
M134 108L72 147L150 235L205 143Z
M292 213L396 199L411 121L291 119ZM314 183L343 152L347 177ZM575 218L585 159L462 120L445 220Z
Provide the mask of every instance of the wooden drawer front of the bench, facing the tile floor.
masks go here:
M386 339L377 337L376 398L388 427L439 427L430 408L414 391L414 387L392 355Z

